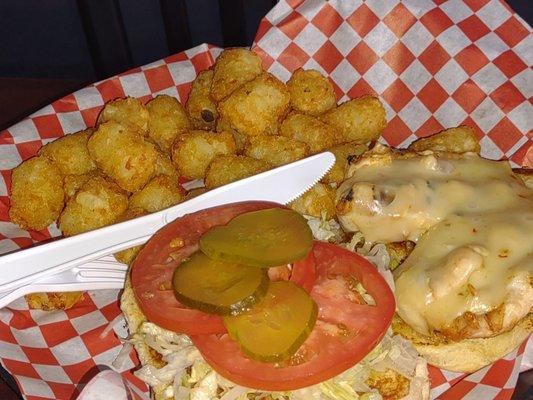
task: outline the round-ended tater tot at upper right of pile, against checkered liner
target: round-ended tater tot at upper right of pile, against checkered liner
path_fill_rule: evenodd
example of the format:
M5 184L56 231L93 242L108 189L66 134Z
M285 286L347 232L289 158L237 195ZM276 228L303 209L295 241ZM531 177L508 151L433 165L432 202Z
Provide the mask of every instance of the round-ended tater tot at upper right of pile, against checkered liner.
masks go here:
M297 69L287 82L291 106L305 114L319 115L335 107L333 85L320 72Z

